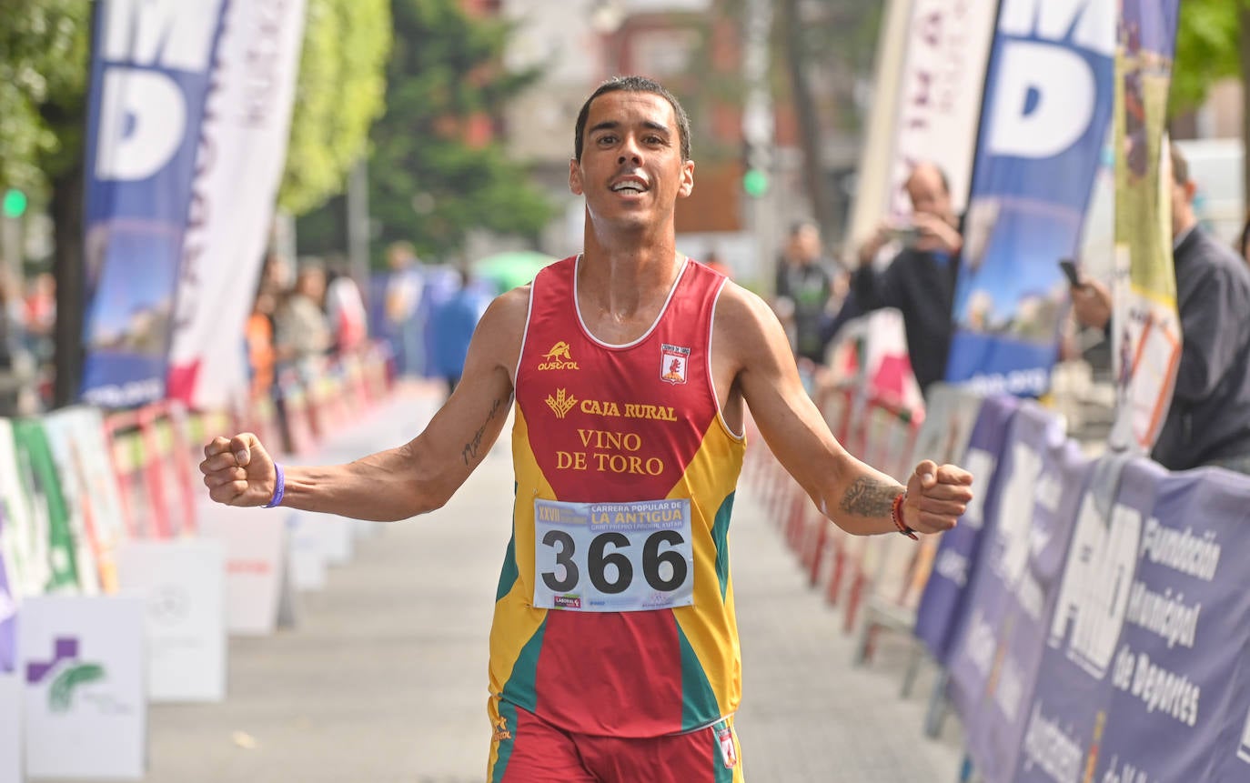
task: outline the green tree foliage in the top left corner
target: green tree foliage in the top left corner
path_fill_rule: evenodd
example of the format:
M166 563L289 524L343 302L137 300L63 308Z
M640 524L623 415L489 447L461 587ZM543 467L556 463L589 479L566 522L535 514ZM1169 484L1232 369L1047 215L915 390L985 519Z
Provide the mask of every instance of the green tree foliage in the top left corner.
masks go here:
M44 190L82 154L91 4L5 0L0 11L0 186Z

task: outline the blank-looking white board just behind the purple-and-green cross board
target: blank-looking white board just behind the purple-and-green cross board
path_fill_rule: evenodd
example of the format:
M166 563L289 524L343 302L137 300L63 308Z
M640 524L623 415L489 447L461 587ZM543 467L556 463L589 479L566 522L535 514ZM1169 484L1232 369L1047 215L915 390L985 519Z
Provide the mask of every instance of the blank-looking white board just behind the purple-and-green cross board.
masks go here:
M130 541L118 551L121 588L148 599L148 697L226 696L225 547L215 539Z

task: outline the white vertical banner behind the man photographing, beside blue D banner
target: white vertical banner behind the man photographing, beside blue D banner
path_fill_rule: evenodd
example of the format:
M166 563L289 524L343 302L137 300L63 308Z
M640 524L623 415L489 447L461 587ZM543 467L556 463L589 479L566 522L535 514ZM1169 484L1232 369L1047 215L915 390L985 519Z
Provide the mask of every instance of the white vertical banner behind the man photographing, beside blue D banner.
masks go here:
M968 206L998 9L999 0L912 0L898 82L885 205L889 219L911 215L904 184L919 162L936 164L946 172L955 212Z

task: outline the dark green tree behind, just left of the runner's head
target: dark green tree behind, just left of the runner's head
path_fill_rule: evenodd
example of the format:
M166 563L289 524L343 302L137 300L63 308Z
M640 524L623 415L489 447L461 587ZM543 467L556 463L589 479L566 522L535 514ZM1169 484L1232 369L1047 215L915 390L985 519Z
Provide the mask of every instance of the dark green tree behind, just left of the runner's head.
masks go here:
M370 210L384 242L430 259L462 250L470 231L536 235L552 211L498 141L472 137L535 72L509 72L511 27L468 15L456 0L394 0L395 49L386 114L374 126ZM554 141L562 144L564 140Z

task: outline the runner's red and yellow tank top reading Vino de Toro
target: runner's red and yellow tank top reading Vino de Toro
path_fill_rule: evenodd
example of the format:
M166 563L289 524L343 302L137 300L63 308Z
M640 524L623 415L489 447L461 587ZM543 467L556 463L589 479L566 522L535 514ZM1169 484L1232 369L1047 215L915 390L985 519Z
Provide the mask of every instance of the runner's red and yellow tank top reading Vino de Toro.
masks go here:
M741 696L728 538L745 442L710 376L725 277L686 261L650 331L606 345L580 317L578 262L539 272L530 295L491 717L496 731L509 706L589 734L701 728Z

